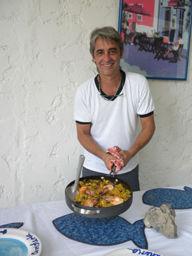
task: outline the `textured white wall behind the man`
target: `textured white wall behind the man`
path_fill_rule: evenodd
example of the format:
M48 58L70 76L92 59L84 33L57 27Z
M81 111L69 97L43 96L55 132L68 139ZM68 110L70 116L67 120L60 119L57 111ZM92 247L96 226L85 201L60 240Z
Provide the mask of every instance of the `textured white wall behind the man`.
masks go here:
M65 198L79 154L77 87L95 75L93 28L118 28L118 0L0 1L0 207ZM141 152L141 188L192 183L188 81L149 81L156 134Z

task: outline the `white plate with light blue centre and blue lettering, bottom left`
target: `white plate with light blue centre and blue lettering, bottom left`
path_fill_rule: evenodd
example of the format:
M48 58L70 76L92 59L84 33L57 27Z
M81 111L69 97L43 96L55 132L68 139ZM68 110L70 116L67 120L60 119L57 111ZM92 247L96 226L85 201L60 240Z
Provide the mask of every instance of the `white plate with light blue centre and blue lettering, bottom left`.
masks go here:
M33 233L17 228L0 228L1 256L40 256L42 243Z

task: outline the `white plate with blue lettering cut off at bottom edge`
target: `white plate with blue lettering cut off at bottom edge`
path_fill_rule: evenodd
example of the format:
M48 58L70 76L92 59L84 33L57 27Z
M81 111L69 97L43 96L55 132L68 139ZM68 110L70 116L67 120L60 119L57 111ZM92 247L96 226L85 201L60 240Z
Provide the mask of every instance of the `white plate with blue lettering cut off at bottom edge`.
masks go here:
M124 249L118 249L112 252L108 252L104 256L138 256L138 255L149 255L149 256L163 256L162 254L143 250L143 249L131 249L131 248L124 248Z

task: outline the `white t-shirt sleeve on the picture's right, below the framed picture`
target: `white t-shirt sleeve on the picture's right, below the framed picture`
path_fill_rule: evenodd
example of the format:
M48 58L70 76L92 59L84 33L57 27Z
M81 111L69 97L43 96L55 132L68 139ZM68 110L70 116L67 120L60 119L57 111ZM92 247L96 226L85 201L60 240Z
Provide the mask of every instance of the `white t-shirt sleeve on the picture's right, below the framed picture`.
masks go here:
M147 115L152 111L154 111L154 101L152 99L152 93L150 92L148 81L145 78L140 90L137 113L138 115Z

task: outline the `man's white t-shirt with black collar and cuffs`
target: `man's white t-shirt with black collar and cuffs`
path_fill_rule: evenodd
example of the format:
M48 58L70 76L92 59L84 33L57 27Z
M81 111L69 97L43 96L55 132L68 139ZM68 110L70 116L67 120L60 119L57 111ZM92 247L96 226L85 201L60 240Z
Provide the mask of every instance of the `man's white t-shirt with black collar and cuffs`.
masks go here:
M117 145L128 150L137 136L139 115L154 111L154 102L144 76L126 72L122 96L113 101L103 99L94 77L77 89L74 105L74 120L91 123L90 134L106 152ZM95 172L109 173L99 157L84 150L84 167ZM130 172L139 163L138 154L131 158L119 174Z

